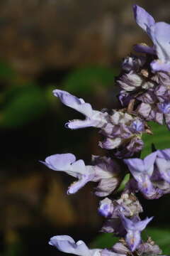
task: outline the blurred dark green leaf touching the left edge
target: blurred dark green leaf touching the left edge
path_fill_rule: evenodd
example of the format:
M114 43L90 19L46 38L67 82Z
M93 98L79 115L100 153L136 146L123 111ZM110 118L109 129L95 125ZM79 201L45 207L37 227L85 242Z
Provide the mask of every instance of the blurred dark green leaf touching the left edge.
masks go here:
M37 85L13 87L7 93L6 105L0 113L2 127L15 128L40 117L47 110L45 92Z

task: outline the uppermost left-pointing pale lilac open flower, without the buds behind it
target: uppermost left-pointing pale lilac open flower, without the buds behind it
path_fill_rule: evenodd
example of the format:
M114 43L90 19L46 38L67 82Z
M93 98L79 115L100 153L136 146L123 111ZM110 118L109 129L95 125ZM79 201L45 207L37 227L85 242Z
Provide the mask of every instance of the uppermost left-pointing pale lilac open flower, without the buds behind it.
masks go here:
M53 94L59 97L61 102L67 107L72 107L81 114L84 114L86 119L73 120L66 124L66 127L70 129L79 129L84 127L103 127L106 124L106 118L108 114L106 112L99 112L93 110L89 103L84 102L83 99L79 99L69 92L63 90L53 90Z

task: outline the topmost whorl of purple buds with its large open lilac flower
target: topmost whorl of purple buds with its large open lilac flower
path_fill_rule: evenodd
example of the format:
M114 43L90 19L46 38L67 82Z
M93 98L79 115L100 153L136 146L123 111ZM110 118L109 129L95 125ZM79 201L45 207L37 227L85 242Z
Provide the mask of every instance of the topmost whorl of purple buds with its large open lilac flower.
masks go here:
M123 61L123 72L117 83L123 89L119 99L123 106L135 100L135 112L147 121L166 123L170 129L170 25L155 22L140 6L134 6L135 21L153 42L134 46L137 53Z

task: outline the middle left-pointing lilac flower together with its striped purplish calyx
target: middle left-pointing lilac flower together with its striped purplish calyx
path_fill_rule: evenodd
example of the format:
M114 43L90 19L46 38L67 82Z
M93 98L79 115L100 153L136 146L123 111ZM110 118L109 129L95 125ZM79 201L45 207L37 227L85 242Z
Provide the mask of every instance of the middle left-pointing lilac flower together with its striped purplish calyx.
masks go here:
M45 162L41 161L48 168L54 171L64 171L78 181L69 186L68 194L76 193L89 181L99 182L96 188L97 196L108 196L117 188L121 179L119 178L119 166L107 157L94 156L95 166L86 166L83 160L77 160L73 154L55 154L48 156Z

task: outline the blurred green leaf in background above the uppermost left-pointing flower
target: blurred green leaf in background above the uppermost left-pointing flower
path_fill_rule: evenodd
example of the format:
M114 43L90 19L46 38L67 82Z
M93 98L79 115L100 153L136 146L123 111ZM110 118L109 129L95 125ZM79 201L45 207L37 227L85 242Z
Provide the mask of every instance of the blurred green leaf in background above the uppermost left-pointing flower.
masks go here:
M112 86L115 75L118 75L118 71L111 68L100 66L79 68L64 80L63 90L72 93L80 92L82 95L89 94L98 90L99 86Z

